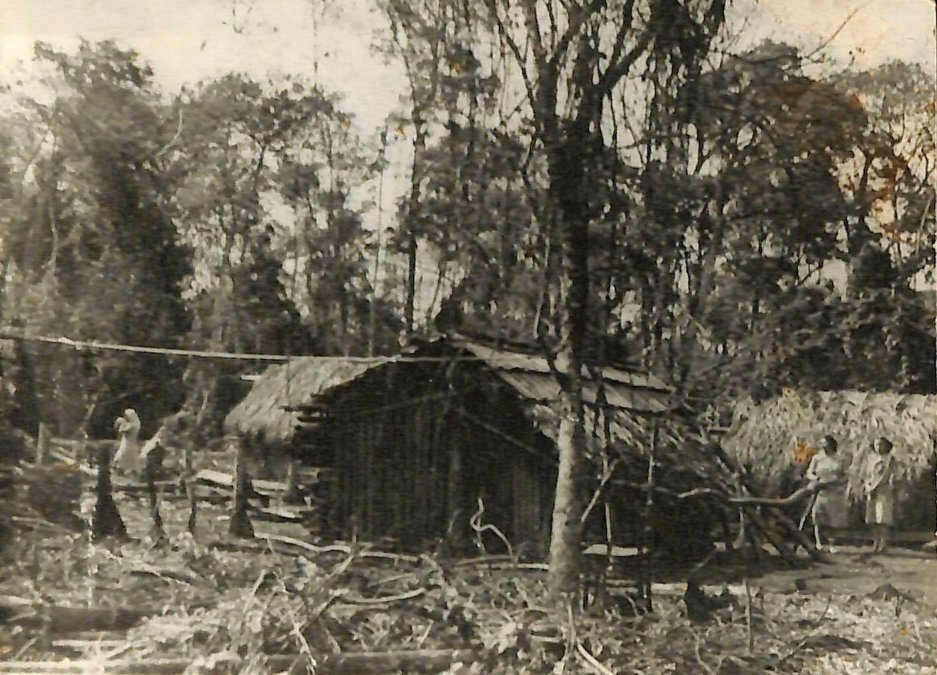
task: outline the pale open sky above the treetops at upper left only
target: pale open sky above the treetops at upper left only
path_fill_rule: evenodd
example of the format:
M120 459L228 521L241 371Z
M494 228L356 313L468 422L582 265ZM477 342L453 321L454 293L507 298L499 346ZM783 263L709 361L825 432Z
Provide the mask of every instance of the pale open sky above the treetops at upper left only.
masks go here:
M342 93L363 129L383 124L405 84L374 53L383 25L371 0L0 0L0 73L36 40L116 39L152 64L166 91L245 72L298 74ZM318 66L318 68L317 68Z

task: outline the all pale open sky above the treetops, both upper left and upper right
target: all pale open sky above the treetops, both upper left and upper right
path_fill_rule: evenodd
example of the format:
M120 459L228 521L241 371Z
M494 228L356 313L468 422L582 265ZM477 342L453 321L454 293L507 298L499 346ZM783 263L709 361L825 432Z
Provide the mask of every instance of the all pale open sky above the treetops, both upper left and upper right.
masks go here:
M748 40L776 36L858 66L935 63L934 0L736 0ZM324 9L323 9L324 8ZM142 54L167 91L229 71L303 74L341 92L362 127L379 128L406 93L399 64L375 54L384 24L373 0L0 0L0 73L32 44L113 38ZM386 35L386 33L385 33Z

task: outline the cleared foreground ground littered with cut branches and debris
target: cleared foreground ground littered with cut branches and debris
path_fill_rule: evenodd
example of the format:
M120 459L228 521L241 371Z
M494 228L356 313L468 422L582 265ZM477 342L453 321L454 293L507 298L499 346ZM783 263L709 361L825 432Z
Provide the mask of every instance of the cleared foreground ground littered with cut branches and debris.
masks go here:
M169 542L154 548L144 500L118 504L135 541L37 528L17 542L0 596L34 616L3 617L0 670L265 673L301 670L309 651L319 672L937 673L933 554L845 548L794 570L763 558L747 583L743 559L724 555L702 579L711 607L691 620L686 570L655 569L650 615L625 597L627 570L600 602L553 608L542 569L503 557L304 547L264 539L301 528L260 522L257 540L233 541L224 504L202 507L192 539L178 501L164 502ZM90 631L52 608L131 625ZM410 660L386 660L400 653ZM359 657L385 660L341 660Z

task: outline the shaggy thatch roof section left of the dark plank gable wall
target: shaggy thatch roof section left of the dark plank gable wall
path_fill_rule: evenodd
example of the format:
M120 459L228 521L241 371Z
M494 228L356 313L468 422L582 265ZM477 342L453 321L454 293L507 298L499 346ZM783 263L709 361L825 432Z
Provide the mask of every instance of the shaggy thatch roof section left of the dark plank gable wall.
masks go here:
M282 366L271 366L254 382L247 397L228 413L225 432L254 436L266 445L285 445L299 423L297 406L355 379L374 365L300 357Z

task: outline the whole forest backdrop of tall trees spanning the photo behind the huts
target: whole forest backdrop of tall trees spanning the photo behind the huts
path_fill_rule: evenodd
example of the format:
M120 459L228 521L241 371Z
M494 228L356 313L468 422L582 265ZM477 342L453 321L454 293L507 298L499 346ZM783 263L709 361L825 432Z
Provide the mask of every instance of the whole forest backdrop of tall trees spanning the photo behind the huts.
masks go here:
M653 371L700 415L783 387L933 393L933 76L732 53L720 3L667 29L608 4L544 24L538 47L523 3L380 3L379 49L409 91L374 133L300 77L163 91L118 43L37 43L42 75L7 83L0 118L0 325L287 355L390 354L447 329L559 350L572 253L582 358ZM531 89L544 68L549 105ZM394 144L407 189L379 214L359 188ZM16 419L62 435L107 434L128 406L217 429L260 367L3 355Z

